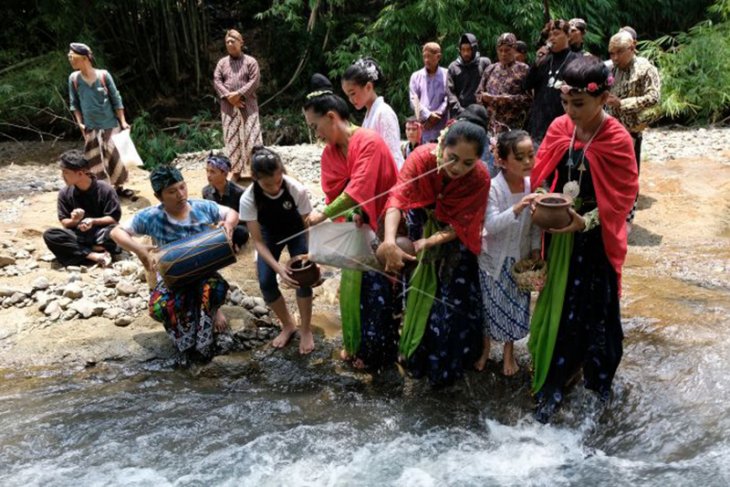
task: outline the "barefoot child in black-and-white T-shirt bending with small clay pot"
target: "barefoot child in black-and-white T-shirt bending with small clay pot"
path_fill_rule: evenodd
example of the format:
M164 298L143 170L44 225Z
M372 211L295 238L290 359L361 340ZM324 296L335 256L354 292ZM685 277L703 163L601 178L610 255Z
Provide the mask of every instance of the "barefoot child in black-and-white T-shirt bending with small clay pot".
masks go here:
M296 288L300 316L299 353L314 350L312 319L312 288L299 287L284 265L279 263L284 247L290 256L306 254L307 237L304 219L312 211L307 189L298 181L284 174L279 155L264 147L255 147L251 156L251 173L254 183L241 197L240 219L248 225L258 252L257 271L259 286L266 304L281 321L281 333L274 338L276 348L285 347L297 332L284 297L279 291L276 275L290 287ZM301 233L301 234L300 234ZM300 234L287 242L292 235Z

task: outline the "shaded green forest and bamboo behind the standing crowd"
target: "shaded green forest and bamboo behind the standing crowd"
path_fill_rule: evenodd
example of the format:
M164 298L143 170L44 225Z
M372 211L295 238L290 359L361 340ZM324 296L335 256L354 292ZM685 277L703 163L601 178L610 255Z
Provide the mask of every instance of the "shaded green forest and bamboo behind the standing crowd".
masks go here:
M553 18L586 19L587 48L602 58L610 35L633 26L662 72L664 120L717 123L730 115L730 0L552 1L550 8ZM261 66L266 142L285 144L308 138L299 107L313 73L337 84L359 55L371 55L386 76L381 94L405 117L422 43L440 42L447 66L461 34L473 32L482 55L494 59L502 32L535 46L543 14L539 0L5 0L0 139L78 135L68 112L71 41L88 43L97 66L112 72L136 140L162 161L220 140L211 78L228 28L244 34Z

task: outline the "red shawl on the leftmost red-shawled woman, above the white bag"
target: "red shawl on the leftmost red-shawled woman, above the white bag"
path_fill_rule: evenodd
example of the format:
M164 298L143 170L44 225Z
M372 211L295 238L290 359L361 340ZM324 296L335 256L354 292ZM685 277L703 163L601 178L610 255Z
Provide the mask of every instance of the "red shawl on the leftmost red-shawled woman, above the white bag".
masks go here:
M362 205L369 224L377 231L388 191L398 178L398 167L383 139L375 131L355 130L347 145L347 157L334 144L322 152L322 191L330 204L344 191ZM377 196L377 197L376 197Z

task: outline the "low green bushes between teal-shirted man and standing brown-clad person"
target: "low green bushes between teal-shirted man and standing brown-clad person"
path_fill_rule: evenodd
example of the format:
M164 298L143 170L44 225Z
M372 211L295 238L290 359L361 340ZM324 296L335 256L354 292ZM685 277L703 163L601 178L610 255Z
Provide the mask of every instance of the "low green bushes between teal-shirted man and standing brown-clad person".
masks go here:
M191 123L176 127L173 135L161 130L147 112L134 119L132 140L144 161L146 169L154 169L160 164L169 164L178 154L208 150L223 145L221 129L215 125L209 112L201 112L193 117ZM211 128L211 122L213 127Z

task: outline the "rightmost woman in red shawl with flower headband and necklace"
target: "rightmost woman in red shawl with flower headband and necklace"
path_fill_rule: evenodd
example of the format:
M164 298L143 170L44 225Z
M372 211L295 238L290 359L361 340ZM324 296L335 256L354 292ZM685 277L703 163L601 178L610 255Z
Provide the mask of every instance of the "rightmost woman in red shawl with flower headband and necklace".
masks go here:
M621 361L621 267L626 216L638 191L631 136L603 111L612 83L593 56L573 61L555 85L565 115L537 153L532 187L573 197L572 221L545 238L548 278L530 325L536 417L547 422L583 368L585 387L609 398Z

